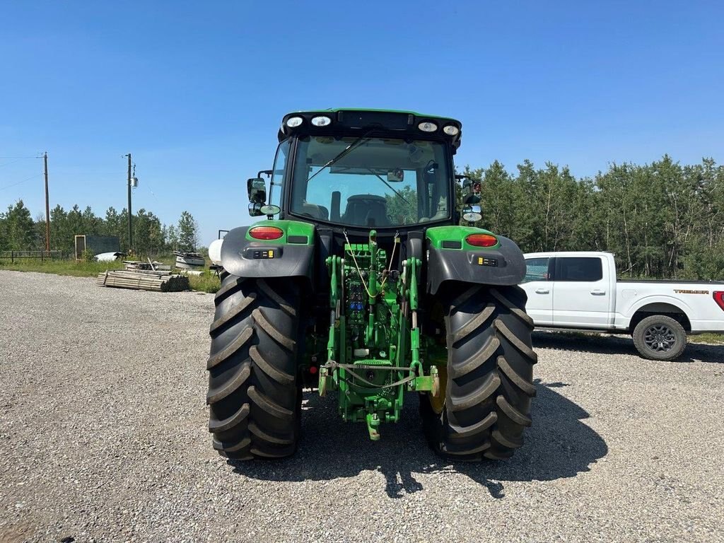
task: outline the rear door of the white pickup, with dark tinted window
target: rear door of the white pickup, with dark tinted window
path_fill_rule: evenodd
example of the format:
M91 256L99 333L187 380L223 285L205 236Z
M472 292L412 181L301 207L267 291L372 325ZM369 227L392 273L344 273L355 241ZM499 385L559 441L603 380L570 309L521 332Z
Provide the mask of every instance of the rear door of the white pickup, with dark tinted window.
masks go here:
M553 324L556 327L611 327L609 278L600 256L558 256L553 272Z

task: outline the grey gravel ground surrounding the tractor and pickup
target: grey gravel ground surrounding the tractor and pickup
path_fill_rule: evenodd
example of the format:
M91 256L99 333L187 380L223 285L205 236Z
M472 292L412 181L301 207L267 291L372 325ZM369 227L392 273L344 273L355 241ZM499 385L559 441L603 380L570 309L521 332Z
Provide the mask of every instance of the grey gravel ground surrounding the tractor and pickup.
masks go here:
M370 442L307 394L300 451L206 431L213 296L0 271L0 542L722 542L724 346L644 361L537 333L513 460L449 463L410 397Z

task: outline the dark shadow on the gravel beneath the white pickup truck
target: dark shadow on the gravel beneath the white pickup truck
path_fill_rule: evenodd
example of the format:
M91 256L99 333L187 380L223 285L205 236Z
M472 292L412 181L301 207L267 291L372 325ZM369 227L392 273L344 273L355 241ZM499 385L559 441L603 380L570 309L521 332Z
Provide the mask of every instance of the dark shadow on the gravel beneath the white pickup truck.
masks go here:
M583 332L533 332L533 347L555 350L568 350L578 353L597 353L604 355L632 355L639 361L652 364L666 363L724 363L724 345L689 343L682 355L675 361L660 362L645 360L633 346L631 337L585 334Z

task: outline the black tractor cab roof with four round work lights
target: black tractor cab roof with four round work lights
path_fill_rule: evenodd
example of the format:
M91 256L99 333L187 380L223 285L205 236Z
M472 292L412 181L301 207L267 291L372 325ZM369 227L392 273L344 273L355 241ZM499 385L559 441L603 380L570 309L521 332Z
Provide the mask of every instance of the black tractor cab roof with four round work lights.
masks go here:
M294 120L290 122L290 119ZM318 119L321 119L321 122ZM402 133L419 138L450 141L454 148L458 148L463 125L450 117L397 109L308 109L292 111L282 118L279 141L294 133L355 134L364 133L372 127L389 132L391 136Z

